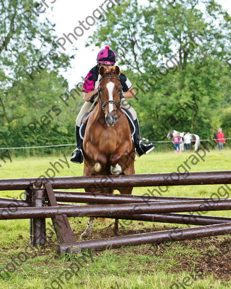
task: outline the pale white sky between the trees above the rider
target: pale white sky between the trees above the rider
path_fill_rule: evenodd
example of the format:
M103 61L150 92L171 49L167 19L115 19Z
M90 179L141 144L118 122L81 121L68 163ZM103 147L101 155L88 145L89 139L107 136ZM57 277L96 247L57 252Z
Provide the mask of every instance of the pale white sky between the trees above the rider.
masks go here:
M88 18L89 25L86 25L86 22L83 23L88 29L83 28L83 32L80 31L80 29L77 30L77 33L79 33L79 35L82 33L82 36L77 37L77 40L72 38L73 44L66 40L66 43L64 44L65 51L62 50L62 48L59 49L60 52L62 51L68 55L75 54L75 59L71 61L72 68L69 67L67 72L63 73L63 76L69 83L69 88L74 88L77 83L82 81L82 77L85 77L89 70L96 65L96 57L101 48L95 47L94 45L85 47L85 45L88 37L96 31L97 25L94 24L94 19L92 19L94 18L92 17L93 11L99 8L99 6L104 3L104 0L45 0L45 2L49 7L46 7L44 16L46 16L51 23L55 24L55 34L58 36L56 39L63 37L63 33L74 33L74 28L80 26L79 21L85 21L88 16L91 16ZM147 3L147 0L138 0L138 2L140 4L145 4ZM178 0L176 0L176 2L178 2ZM230 0L217 0L217 2L231 14ZM120 0L120 3L122 3L122 0ZM102 8L106 8L106 4L104 4ZM102 11L102 9L99 9L99 11ZM103 14L107 15L106 13ZM100 16L97 11L94 15L95 18ZM110 39L108 44L110 45ZM74 50L76 48L78 48L78 50ZM104 47L102 47L102 49L103 48ZM113 47L111 48L113 49Z

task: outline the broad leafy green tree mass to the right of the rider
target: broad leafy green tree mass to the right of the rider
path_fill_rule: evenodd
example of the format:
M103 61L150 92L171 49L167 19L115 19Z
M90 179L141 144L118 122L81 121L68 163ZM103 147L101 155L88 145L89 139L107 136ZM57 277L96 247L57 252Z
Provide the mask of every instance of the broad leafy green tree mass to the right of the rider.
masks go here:
M119 64L132 72L130 80L139 88L139 101L131 103L146 136L164 139L166 132L157 134L157 129L174 116L179 104L191 101L197 102L198 110L188 109L167 129L209 138L222 124L218 112L227 107L231 94L225 62L231 46L230 20L215 0L189 0L174 7L164 0L149 0L143 6L137 0L124 1L98 24L88 45L102 47L112 39Z

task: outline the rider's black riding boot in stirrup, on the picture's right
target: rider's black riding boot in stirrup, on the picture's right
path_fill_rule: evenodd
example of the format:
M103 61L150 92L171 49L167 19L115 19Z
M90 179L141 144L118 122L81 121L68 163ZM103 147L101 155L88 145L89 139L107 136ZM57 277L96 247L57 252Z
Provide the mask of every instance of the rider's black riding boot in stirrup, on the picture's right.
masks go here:
M151 144L147 139L140 137L138 119L134 121L134 125L135 125L134 145L136 148L136 153L139 156L141 156L144 153L146 154L150 152L154 148L154 145ZM144 143L147 143L147 144L144 144Z

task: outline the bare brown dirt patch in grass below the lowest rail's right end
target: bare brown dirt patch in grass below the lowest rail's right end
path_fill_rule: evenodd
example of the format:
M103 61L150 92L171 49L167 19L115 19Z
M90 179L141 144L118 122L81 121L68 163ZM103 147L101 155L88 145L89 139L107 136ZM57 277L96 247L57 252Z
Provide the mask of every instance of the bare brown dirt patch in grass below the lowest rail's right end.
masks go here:
M165 252L168 249L179 251L179 246L175 248L175 243L153 244L152 252L165 258ZM196 277L213 275L214 279L229 280L231 279L230 247L230 237L223 241L214 237L180 241L181 252L175 255L177 266L166 271L171 273L194 271Z

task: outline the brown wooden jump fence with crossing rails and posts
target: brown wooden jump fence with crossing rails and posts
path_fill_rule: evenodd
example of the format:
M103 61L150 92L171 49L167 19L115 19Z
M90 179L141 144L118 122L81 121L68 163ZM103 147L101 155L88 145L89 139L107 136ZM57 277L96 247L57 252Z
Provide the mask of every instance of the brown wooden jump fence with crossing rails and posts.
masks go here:
M172 172L135 175L53 177L52 179L1 179L0 190L25 190L25 199L0 198L0 220L30 219L30 243L46 242L45 218L51 218L58 239L57 251L104 250L120 246L160 243L231 234L231 218L204 216L199 212L231 210L231 198L197 198L144 195L118 195L54 189L104 187L156 187L173 185L222 184L231 191L231 171ZM151 192L149 190L149 192ZM221 196L224 196L221 195ZM59 202L59 203L58 203ZM60 203L66 202L66 203ZM91 205L76 205L89 203ZM198 212L180 214L182 212ZM183 228L106 239L76 242L67 217L104 217L163 222L201 227Z

